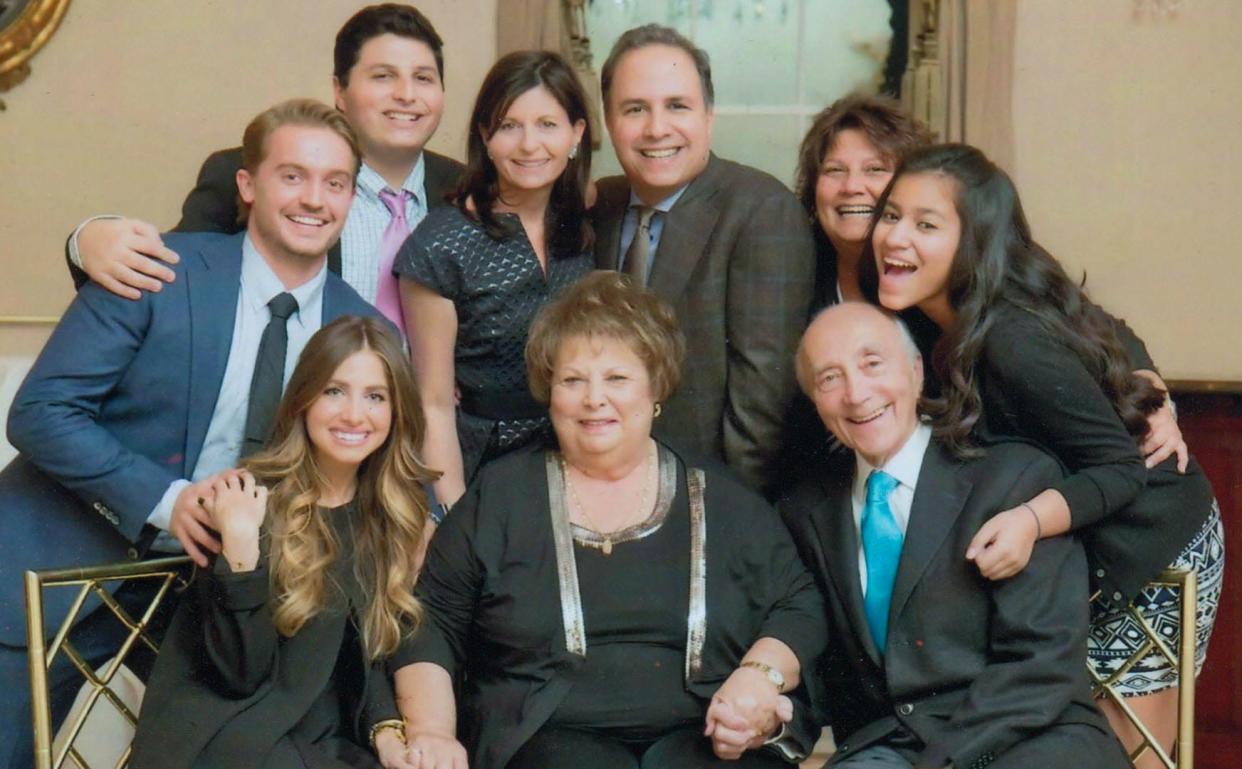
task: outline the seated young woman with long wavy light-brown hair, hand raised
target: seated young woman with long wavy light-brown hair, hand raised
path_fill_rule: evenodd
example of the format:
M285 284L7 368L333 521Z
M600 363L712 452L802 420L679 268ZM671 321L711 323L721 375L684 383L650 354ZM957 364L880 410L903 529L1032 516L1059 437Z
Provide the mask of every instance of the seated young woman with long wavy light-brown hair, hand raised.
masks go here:
M381 321L310 338L267 447L204 502L222 548L155 662L135 769L409 767L385 660L422 619L424 424Z

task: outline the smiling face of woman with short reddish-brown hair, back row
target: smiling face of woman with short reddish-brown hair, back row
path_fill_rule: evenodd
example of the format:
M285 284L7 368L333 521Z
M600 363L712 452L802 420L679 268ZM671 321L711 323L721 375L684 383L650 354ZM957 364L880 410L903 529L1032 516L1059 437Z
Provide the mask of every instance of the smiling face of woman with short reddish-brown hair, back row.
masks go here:
M847 128L823 154L815 184L815 217L837 251L859 251L876 202L893 178L893 162L867 134Z

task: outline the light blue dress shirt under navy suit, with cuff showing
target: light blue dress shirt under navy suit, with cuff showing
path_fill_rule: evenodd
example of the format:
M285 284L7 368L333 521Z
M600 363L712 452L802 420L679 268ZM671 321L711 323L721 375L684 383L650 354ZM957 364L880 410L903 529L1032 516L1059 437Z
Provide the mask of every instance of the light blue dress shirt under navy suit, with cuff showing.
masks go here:
M286 327L289 333L288 348L284 353L284 383L288 384L293 368L297 365L302 348L323 325L323 284L328 278L328 265L297 288L288 289L298 301L298 311L289 316ZM202 441L199 461L190 473L190 480L178 480L169 485L159 504L148 516L147 523L163 529L152 545L156 550L180 550L180 543L168 534L173 519L173 504L181 489L194 481L201 481L221 470L236 467L241 458L241 442L246 432L246 407L250 405L250 380L255 375L255 358L258 355L258 343L272 318L267 303L272 297L286 291L272 268L260 256L251 242L250 235L241 247L241 287L237 297L237 312L233 316L232 342L229 345L229 363L220 384L207 434ZM283 385L282 385L283 386Z

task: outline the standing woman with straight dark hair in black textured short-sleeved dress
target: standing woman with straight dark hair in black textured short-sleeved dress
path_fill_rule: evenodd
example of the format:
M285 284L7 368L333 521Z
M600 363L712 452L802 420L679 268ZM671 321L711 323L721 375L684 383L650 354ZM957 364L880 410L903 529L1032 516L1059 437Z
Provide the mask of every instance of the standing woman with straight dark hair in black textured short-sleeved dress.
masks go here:
M471 127L456 207L433 210L394 265L427 411L425 457L443 471L436 496L448 504L482 462L546 432L548 410L527 386L527 329L592 266L586 98L565 60L501 58Z

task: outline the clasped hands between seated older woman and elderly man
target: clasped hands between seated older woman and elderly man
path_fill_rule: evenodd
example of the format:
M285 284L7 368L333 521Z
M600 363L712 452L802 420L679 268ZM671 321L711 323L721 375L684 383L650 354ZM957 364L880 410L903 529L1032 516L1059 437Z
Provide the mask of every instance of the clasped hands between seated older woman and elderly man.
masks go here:
M794 703L776 691L765 675L739 667L712 696L703 734L712 738L712 750L735 760L746 750L763 747L781 724L794 718Z

